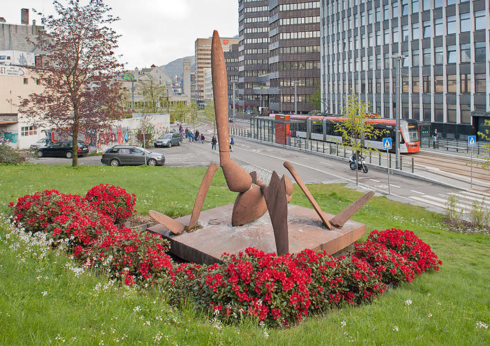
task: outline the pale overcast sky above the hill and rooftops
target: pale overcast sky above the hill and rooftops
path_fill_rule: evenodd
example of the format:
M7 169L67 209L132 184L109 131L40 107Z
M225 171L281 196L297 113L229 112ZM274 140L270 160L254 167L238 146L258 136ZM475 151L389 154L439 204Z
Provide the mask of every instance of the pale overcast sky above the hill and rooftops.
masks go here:
M29 9L30 24L33 19L40 23L33 8L54 14L52 0L0 0L0 3L0 17L7 23L20 24L21 8ZM194 41L212 36L212 30L218 30L221 37L238 35L237 0L105 0L105 3L120 18L114 30L123 35L118 53L123 55L127 69L159 66L194 55Z

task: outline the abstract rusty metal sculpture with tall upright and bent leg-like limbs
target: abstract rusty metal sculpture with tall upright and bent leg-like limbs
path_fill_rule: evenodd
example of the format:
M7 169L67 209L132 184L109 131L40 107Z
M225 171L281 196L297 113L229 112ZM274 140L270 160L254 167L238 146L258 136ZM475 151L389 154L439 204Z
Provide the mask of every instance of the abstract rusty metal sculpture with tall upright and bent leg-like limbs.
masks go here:
M228 82L226 78L226 64L223 48L221 46L221 39L219 39L216 30L212 35L211 67L219 143L219 165L223 170L228 189L233 192L238 192L237 199L235 199L233 205L231 224L232 226L243 226L260 219L260 217L269 211L276 251L278 255L284 255L289 252L287 204L293 197L293 184L285 175L279 178L275 171L272 173L270 183L263 183L257 178L257 172L251 172L249 174L244 168L231 159L230 148L228 146ZM318 206L318 203L293 168L293 165L286 161L284 162L284 167L289 170L293 179L296 180L300 189L305 193L307 199L314 207L314 210L318 214L318 217L320 217L323 225L328 228L328 230L332 230L334 226L337 228L344 226L347 220L374 195L374 192L364 194L361 198L345 208L345 210L328 220L327 215L325 215L320 206ZM203 177L194 203L192 215L190 216L188 230L191 230L197 225L204 199L206 198L208 188L217 168L217 164L211 163ZM150 210L149 215L159 224L162 224L165 228L170 230L170 232L174 233L174 235L181 235L185 230L185 226L181 222L159 212ZM197 252L199 253L199 251Z

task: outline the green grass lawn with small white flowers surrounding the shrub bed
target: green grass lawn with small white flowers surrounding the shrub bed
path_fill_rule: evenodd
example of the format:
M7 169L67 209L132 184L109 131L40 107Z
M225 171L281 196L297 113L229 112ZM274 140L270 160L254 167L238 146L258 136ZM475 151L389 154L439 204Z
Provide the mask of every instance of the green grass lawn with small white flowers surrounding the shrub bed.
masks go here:
M44 189L84 195L111 183L136 194L140 214L155 209L173 217L192 211L206 168L19 165L0 166L0 212L6 203ZM310 185L321 208L335 214L359 197L342 185ZM221 171L204 208L233 203ZM295 186L293 201L309 206ZM221 325L191 304L176 311L163 295L148 297L107 278L73 269L74 262L6 239L0 226L0 344L114 345L490 345L490 237L453 233L442 215L374 197L354 217L374 229L413 230L443 264L413 282L388 290L371 304L325 311L289 329L251 321ZM4 223L3 223L4 224ZM364 237L365 238L365 237ZM408 304L411 300L411 304Z

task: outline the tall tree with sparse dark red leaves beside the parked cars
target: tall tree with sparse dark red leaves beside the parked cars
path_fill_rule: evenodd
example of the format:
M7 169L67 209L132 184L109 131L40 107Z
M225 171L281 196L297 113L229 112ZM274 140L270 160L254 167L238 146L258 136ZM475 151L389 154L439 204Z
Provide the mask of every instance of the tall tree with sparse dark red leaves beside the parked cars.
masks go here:
M22 100L19 113L72 136L75 167L80 131L97 131L123 114L115 82L123 67L114 54L120 35L110 28L118 18L102 0L53 4L56 15L40 13L45 30L33 42L43 52L35 74L44 91Z

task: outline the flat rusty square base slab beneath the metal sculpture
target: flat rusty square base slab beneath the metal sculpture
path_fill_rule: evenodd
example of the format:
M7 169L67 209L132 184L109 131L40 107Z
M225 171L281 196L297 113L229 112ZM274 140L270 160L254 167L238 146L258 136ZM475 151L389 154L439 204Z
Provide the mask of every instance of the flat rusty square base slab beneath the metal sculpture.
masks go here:
M174 235L165 226L157 224L147 230L162 235L170 241L170 252L188 262L213 264L221 262L223 253L237 254L253 247L265 253L276 253L274 233L266 212L260 219L244 226L231 226L233 204L204 210L199 216L201 228L191 233ZM327 219L334 215L324 213ZM325 250L330 255L356 242L366 231L366 226L349 220L342 228L328 230L315 210L288 206L289 253L299 253L306 248ZM188 225L190 215L176 219Z

